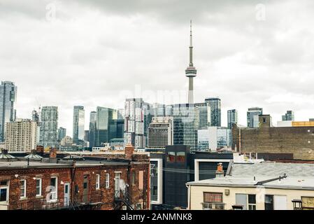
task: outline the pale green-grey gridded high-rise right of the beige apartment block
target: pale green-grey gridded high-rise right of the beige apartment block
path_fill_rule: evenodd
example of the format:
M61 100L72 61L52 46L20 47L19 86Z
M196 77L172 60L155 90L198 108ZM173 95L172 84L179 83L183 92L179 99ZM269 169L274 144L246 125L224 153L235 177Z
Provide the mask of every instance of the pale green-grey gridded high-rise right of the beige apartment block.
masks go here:
M58 107L43 106L41 110L40 144L44 148L57 148Z

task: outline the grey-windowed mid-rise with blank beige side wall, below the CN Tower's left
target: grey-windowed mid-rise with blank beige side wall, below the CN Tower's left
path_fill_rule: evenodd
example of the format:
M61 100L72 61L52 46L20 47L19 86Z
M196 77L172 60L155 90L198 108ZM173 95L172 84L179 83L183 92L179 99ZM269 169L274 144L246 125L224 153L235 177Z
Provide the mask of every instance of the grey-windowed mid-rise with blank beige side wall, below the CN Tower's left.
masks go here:
M155 117L148 127L148 148L173 145L173 118Z

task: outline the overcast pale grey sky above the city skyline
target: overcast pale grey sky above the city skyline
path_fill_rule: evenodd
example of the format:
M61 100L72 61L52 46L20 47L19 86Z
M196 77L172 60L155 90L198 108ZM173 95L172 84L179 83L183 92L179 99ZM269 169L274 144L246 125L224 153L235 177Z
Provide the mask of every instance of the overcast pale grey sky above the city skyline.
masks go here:
M287 110L314 118L312 0L0 0L0 80L17 85L18 118L59 106L70 136L74 105L87 129L90 111L126 96L184 103L191 18L195 102L220 97L222 125L228 109L246 125L252 106L274 125Z

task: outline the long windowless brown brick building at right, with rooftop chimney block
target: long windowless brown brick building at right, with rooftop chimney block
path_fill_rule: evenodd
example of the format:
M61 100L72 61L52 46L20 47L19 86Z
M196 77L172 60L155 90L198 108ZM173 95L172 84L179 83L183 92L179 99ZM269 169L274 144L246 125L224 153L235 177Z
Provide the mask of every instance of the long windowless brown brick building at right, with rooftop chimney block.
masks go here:
M259 127L232 130L232 149L282 159L314 160L314 127L272 127L271 116L259 116ZM267 160L267 158L264 158Z

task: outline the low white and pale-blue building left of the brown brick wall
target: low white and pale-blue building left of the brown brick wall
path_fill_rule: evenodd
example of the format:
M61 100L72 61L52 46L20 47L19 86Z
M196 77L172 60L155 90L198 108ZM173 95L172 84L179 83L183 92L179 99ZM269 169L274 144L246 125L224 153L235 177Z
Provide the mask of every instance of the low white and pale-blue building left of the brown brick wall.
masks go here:
M207 130L197 130L197 149L199 151L217 151L231 148L232 131L227 127L208 127Z

